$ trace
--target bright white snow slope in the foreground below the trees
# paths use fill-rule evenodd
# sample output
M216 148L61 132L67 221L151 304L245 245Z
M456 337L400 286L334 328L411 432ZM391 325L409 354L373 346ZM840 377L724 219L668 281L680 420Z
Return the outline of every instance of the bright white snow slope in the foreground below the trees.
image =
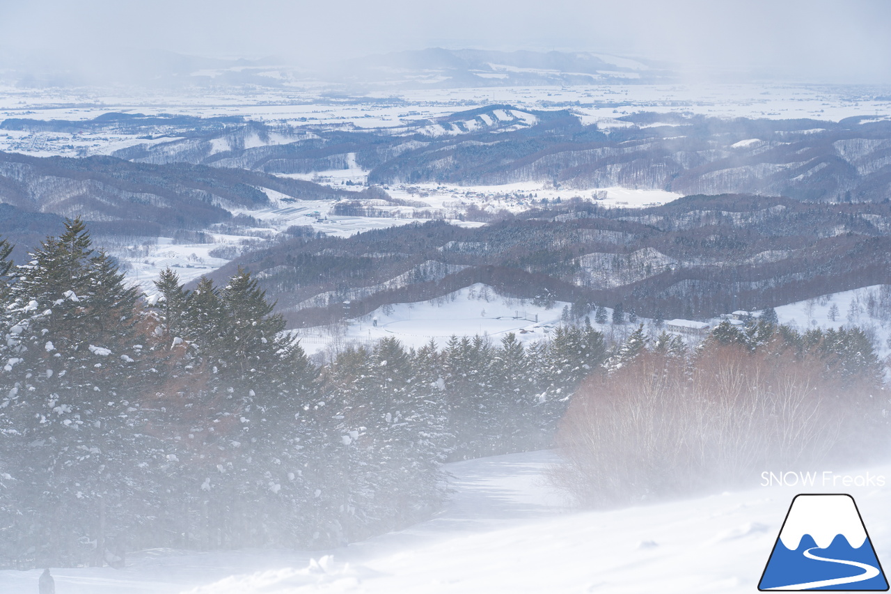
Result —
M150 550L127 568L53 570L59 594L292 594L296 592L752 592L792 498L850 493L879 561L891 558L891 466L810 471L816 484L762 486L608 511L577 511L545 480L553 452L448 465L454 494L429 521L340 549L194 553ZM836 486L822 484L836 471ZM844 472L843 472L844 471ZM791 475L787 475L791 483ZM37 591L39 570L0 572L0 593Z

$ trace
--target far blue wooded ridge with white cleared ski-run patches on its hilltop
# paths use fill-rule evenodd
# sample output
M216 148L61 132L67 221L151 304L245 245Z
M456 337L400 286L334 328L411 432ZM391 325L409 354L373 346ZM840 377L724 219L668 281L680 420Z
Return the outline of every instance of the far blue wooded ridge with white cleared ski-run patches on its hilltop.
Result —
M149 118L91 120L144 134ZM570 191L621 186L679 194L786 195L806 202L881 202L891 195L891 121L733 120L639 113L585 126L571 109L493 104L389 128L237 119L178 122L114 155L272 175L349 169L372 184L547 183ZM6 120L31 129L73 122ZM12 127L15 128L12 128ZM30 128L28 128L30 127ZM159 142L160 140L160 142Z

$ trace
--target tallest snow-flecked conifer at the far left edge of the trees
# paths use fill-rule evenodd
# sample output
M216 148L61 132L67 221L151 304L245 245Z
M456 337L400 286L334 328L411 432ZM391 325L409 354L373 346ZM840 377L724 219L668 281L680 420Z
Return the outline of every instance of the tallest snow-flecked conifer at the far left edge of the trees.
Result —
M29 476L12 532L33 560L102 563L106 536L140 521L122 507L145 477L135 290L75 219L16 269L11 296L0 406Z

